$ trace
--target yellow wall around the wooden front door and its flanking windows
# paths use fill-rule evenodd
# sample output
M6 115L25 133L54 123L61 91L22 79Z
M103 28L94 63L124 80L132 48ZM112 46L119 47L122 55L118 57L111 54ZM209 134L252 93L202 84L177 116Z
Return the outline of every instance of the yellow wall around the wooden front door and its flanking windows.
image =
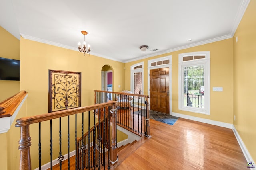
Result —
M178 55L195 51L210 51L210 115L178 109ZM226 39L188 49L166 53L125 64L125 89L130 89L130 66L144 61L144 93L148 92L148 60L172 55L172 112L201 117L214 121L233 123L233 40ZM145 68L146 67L146 68ZM212 87L223 87L223 92L213 92Z

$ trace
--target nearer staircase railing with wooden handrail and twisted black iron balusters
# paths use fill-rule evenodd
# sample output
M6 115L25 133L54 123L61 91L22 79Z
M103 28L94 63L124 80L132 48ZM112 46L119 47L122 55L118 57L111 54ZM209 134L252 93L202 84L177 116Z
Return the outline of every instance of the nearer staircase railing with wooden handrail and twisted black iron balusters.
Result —
M117 158L117 153L116 153L116 109L115 109L115 103L116 102L107 102L107 103L102 103L102 104L95 104L92 106L86 106L86 107L78 107L74 109L67 109L67 110L62 110L62 111L56 111L52 113L46 113L42 115L36 115L32 117L23 117L18 120L16 120L16 127L20 127L20 141L19 141L19 150L20 150L20 170L31 170L31 156L30 156L30 146L31 146L31 141L33 138L30 137L30 125L38 123L38 166L39 170L41 169L41 160L42 157L50 157L50 167L52 169L52 162L53 162L53 155L56 155L56 152L53 150L58 150L58 162L60 166L60 170L62 169L62 160L64 156L62 155L64 150L67 150L68 153L68 169L70 168L70 143L75 143L76 145L76 168L86 168L85 165L88 166L90 169L96 168L96 158L99 158L96 156L96 152L99 152L100 154L98 156L103 156L102 160L104 161L98 161L98 167L100 166L105 166L108 165L108 168L114 164L118 158ZM90 112L95 112L96 110L105 110L106 107L112 107L111 115L108 115L106 111L104 111L104 117L100 119L100 122L98 124L96 123L94 119L94 125L92 125L92 128L90 128ZM74 116L72 116L74 115ZM72 119L71 119L72 116ZM64 119L65 117L65 119ZM112 119L110 120L109 117ZM67 119L67 123L64 124L64 120ZM82 120L81 120L82 119ZM70 121L72 120L72 121ZM88 120L88 127L85 127L84 120ZM48 146L42 146L42 138L41 138L41 131L44 125L47 123L42 123L45 121L50 121L48 124L48 127L50 128L50 145ZM82 121L82 125L78 123L78 121ZM111 121L111 122L110 122ZM53 127L53 123L58 122L59 128L56 128L56 125ZM111 129L110 129L110 123ZM41 127L42 126L42 127ZM100 127L103 126L103 129ZM34 127L34 126L33 126ZM79 128L80 127L80 128ZM107 128L106 128L107 127ZM88 128L87 130L84 130ZM72 131L70 131L72 129ZM67 134L64 134L64 132L67 130ZM111 133L110 133L111 130ZM55 137L53 136L53 133L56 132L58 133L57 139L56 135ZM78 139L78 134L82 133L81 140ZM87 133L88 132L88 133ZM105 136L107 134L107 137ZM74 139L70 138L70 134L74 134ZM87 134L87 135L86 135ZM111 137L110 137L111 135ZM67 146L67 149L63 149L64 143L62 143L63 138L62 136L67 136L68 137L68 142L65 144ZM45 139L44 139L45 140ZM86 141L87 140L87 143ZM98 143L96 143L96 140ZM110 141L111 140L111 141ZM82 142L80 142L82 141ZM92 143L92 141L95 143ZM54 143L55 142L55 143ZM56 143L59 143L58 149L54 148L53 145ZM97 145L96 145L97 144ZM101 149L99 150L98 148L103 147L103 149L108 149L108 156L105 158L104 155L102 155ZM49 155L42 155L42 147L44 150L48 147L48 150L50 150ZM89 150L92 148L92 152ZM97 149L96 149L97 148ZM96 151L97 150L97 151ZM98 151L99 150L99 151ZM54 154L55 153L55 154ZM104 153L104 151L103 151ZM34 154L33 154L34 155ZM82 156L81 156L82 155ZM79 156L79 157L78 157ZM96 156L96 158L94 157ZM101 157L100 157L101 158ZM82 164L79 163L79 160L82 160ZM92 164L93 162L93 164ZM34 162L33 162L34 163ZM89 166L90 165L90 166Z

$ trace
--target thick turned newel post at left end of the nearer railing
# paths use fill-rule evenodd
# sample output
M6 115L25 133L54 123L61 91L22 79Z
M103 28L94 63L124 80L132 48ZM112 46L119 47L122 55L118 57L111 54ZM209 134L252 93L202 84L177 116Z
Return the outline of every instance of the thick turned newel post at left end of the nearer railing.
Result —
M29 125L20 127L20 170L31 170Z

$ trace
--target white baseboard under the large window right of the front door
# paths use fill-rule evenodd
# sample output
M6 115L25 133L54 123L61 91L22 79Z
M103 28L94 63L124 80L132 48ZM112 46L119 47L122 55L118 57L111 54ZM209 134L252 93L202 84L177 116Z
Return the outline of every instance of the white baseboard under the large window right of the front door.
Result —
M226 127L228 129L233 129L233 124L231 124L231 123L225 123L225 122L221 122L221 121L204 119L204 118L200 118L200 117L194 117L194 116L189 116L189 115L184 115L184 114L174 113L174 112L170 113L170 115L176 116L176 117L181 117L181 118L184 118L184 119L199 121L199 122L202 122L202 123L207 123L207 124L210 124L210 125L216 125L216 126L220 126L220 127Z

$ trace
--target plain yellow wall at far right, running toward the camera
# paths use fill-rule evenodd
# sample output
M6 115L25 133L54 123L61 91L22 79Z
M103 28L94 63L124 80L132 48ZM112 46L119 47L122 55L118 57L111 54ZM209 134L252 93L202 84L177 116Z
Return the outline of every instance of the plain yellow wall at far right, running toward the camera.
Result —
M234 115L240 137L256 160L256 1L251 0L234 35ZM238 42L236 42L238 37Z

